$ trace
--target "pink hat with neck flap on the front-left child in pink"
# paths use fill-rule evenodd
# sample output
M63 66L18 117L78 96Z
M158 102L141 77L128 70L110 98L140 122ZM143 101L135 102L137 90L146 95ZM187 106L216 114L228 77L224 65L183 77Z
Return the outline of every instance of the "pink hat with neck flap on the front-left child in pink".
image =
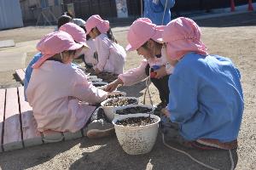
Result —
M37 49L43 55L34 65L32 65L32 68L39 68L46 59L49 59L55 54L60 54L66 50L76 50L82 47L82 44L74 42L73 38L65 31L49 33L38 42Z

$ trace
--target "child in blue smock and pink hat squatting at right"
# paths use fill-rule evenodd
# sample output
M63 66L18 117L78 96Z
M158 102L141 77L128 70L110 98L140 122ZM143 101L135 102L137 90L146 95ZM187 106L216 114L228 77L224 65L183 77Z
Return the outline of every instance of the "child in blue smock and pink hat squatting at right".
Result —
M240 72L230 59L207 53L193 20L172 20L163 39L167 59L175 65L163 112L178 125L176 139L197 149L235 149L244 109Z

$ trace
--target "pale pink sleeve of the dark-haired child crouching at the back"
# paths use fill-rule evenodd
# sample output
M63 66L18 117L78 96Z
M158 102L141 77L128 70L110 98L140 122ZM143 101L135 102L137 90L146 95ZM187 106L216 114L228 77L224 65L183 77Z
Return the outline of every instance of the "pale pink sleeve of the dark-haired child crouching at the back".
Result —
M107 63L110 54L110 48L108 46L108 39L98 36L95 39L96 51L98 54L98 63L93 68L99 69L100 71L104 70L104 67Z

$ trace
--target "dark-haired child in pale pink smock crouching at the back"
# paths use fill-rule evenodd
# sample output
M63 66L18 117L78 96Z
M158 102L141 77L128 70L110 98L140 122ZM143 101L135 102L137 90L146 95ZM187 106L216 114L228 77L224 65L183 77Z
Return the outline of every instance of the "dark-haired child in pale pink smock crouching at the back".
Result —
M86 34L95 39L98 63L93 67L96 74L105 71L114 74L123 73L125 49L114 39L108 20L92 15L85 24Z

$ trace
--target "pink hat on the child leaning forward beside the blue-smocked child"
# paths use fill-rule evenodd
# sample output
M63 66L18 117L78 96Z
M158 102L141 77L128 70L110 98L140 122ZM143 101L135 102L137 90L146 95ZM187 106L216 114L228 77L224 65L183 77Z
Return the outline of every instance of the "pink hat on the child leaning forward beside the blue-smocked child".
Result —
M148 18L140 18L135 20L127 33L129 44L126 46L127 51L140 48L150 38L155 42L162 43L162 32L164 26L156 26Z

